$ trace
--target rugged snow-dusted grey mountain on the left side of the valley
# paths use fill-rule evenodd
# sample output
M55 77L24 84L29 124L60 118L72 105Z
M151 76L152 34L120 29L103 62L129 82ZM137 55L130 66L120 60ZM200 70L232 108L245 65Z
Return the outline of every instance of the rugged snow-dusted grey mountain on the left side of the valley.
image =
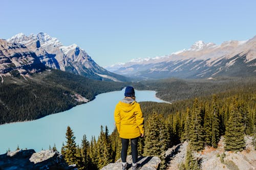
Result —
M57 38L46 33L30 36L20 33L7 40L0 39L1 77L10 75L10 71L26 76L46 68L60 69L96 80L127 80L100 67L76 44L64 46Z

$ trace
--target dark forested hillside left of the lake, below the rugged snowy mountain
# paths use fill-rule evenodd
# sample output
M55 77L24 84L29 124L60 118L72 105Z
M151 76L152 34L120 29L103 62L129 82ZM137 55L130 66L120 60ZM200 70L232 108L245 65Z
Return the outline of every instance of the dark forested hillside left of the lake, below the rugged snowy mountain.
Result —
M0 85L0 125L71 109L83 103L76 100L75 94L91 101L97 94L125 86L122 82L92 80L55 69L34 74L26 80L20 76L5 78Z

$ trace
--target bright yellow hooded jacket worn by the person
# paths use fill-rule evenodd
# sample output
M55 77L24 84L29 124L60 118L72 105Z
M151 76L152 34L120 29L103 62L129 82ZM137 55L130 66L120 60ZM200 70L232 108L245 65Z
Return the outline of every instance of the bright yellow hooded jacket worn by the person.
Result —
M115 122L119 136L124 139L133 139L144 134L144 118L140 104L119 102L115 108Z

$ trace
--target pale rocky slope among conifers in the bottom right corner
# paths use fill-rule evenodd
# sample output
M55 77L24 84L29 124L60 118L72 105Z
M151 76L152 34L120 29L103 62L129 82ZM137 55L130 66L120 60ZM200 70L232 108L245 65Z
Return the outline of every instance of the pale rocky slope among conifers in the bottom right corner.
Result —
M242 152L224 151L224 137L221 137L218 148L206 147L202 152L193 153L197 160L201 160L202 170L233 170L256 169L256 151L252 145L252 137L246 136L246 150ZM168 170L179 169L180 164L185 163L188 143L178 144L165 152L168 160Z

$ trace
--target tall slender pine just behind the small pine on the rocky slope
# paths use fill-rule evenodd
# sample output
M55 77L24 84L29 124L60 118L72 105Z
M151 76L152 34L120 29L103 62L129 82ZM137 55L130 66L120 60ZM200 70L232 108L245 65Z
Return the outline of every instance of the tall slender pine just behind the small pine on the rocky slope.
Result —
M203 127L202 117L203 109L199 105L198 99L195 99L192 115L191 115L191 126L190 126L190 144L191 149L194 151L201 151L203 149Z

